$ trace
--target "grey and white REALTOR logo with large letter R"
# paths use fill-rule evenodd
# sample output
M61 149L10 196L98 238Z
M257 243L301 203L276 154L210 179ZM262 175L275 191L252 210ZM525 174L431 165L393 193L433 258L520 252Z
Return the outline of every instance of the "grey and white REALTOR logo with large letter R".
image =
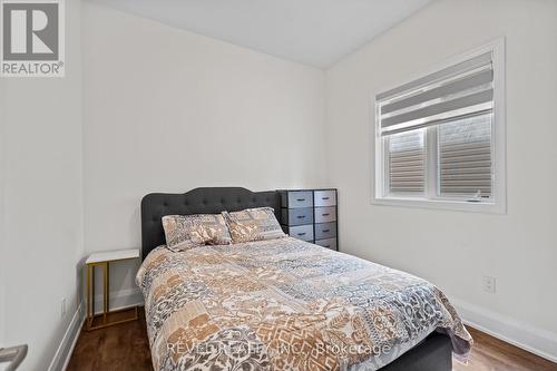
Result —
M0 0L2 77L63 77L63 0Z

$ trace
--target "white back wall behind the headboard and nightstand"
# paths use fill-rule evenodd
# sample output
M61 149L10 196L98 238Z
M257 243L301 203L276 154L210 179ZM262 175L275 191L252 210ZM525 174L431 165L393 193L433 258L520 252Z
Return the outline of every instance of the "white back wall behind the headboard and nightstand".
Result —
M149 192L323 185L323 70L90 2L82 45L88 252L139 247Z

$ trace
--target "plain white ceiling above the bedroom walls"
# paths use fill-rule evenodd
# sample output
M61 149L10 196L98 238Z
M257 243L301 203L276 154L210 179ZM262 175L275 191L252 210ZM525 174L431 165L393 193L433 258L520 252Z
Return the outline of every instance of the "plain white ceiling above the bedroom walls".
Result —
M92 0L283 59L326 68L430 0Z

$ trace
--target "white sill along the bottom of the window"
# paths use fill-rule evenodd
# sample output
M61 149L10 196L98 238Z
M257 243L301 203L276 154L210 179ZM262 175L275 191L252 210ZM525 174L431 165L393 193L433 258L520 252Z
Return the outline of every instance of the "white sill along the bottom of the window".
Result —
M447 201L447 199L428 199L428 198L410 198L410 197L373 197L373 205L399 206L399 207L419 207L446 209L455 212L469 213L486 213L486 214L506 214L505 205L501 203L488 202L468 202L468 201Z

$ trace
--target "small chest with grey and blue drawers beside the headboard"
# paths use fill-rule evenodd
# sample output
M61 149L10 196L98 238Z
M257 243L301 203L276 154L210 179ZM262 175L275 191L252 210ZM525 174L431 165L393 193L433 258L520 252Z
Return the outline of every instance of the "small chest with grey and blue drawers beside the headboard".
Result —
M281 224L286 234L339 250L336 189L282 189Z

